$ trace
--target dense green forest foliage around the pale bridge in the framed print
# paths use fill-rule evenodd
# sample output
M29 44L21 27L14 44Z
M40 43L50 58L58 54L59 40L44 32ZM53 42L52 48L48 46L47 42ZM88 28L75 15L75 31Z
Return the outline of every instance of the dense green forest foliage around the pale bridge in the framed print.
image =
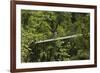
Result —
M21 61L45 62L90 58L90 14L21 10ZM81 36L36 43L59 37Z

